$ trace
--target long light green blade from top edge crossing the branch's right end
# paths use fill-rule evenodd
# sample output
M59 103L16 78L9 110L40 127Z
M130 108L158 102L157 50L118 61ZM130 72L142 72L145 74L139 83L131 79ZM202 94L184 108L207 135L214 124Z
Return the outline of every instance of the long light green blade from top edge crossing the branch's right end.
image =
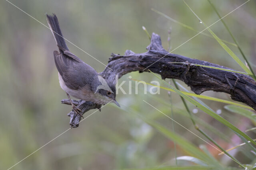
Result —
M186 4L186 6L188 6L188 4L184 0L183 2ZM233 51L230 48L228 48L228 46L225 43L223 43L223 41L196 15L196 13L189 6L188 8L196 16L196 18L198 18L198 20L204 24L204 26L208 29L208 31L212 34L216 41L218 41L218 43L234 59L234 61L236 61L236 63L238 63L248 74L252 75L250 69L246 67L246 65L235 55L235 53L233 53ZM256 81L256 78L254 78L254 76L251 77Z

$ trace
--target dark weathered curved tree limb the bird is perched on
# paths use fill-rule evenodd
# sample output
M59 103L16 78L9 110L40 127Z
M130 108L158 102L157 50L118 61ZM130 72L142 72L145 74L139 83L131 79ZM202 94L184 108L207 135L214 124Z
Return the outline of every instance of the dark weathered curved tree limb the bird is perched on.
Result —
M148 72L149 69L152 72L160 74L162 79L175 78L182 80L190 86L191 90L196 94L201 94L208 90L225 92L230 94L232 100L243 102L256 110L256 82L250 76L196 66L193 64L230 69L206 61L191 59L171 53L168 54L162 47L160 36L155 33L152 33L151 43L146 49L148 49L148 51L141 54L136 54L130 50L127 50L125 55L112 53L112 58L109 59L107 65L112 70L106 67L105 70L99 74L108 80L115 81L116 75L118 75L118 78L121 78L124 74L129 72ZM186 62L188 64L170 62ZM62 100L62 103L70 104L68 100ZM90 109L99 108L98 105L83 100L73 100L73 103L78 105L78 108L82 110L83 114ZM78 127L81 119L80 115L71 111L68 113L68 116L70 116L71 127Z

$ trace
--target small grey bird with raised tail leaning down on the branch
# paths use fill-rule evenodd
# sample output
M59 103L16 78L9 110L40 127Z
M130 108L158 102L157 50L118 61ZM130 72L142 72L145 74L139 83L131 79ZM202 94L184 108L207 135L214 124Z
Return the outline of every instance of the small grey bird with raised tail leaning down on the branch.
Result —
M94 68L72 54L60 31L57 16L55 14L46 16L59 49L59 52L54 51L53 55L58 69L60 87L66 92L74 111L82 116L81 110L74 106L69 95L98 105L113 102L120 107L116 102L116 82L104 79Z

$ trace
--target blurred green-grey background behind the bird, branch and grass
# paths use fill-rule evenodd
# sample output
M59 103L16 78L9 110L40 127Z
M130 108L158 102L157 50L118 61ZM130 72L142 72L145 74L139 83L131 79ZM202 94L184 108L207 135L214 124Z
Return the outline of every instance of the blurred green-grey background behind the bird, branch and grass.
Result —
M64 37L104 64L108 63L111 53L122 55L126 49L135 53L145 52L150 41L142 26L145 26L150 34L152 32L159 34L165 49L168 49L167 38L170 27L172 49L196 35L195 31L164 18L153 12L151 8L198 31L205 29L180 0L11 0L10 2L45 25L47 25L45 14L55 13ZM224 16L246 1L214 0L212 2L221 16ZM187 3L207 25L219 19L206 0L190 0ZM224 18L252 65L256 63L255 9L256 1L251 0ZM0 16L0 169L8 169L66 131L70 127L68 124L70 117L66 114L71 107L60 103L60 100L67 97L58 82L58 72L53 59L53 51L57 50L57 46L51 31L4 0L0 2ZM233 42L220 21L211 29L221 39ZM208 33L207 30L205 32ZM74 45L68 42L67 45L72 53L90 64L97 72L104 70L103 64ZM236 47L232 45L228 47L242 59ZM242 71L215 39L205 35L194 37L172 53ZM133 86L135 85L134 81L127 79L128 76L146 82L157 80L150 73L126 74L119 80L126 81L123 86L126 92L129 81ZM190 90L186 84L178 82ZM161 86L166 87L163 83ZM142 85L139 89L137 95L134 94L134 88L130 95L118 94L116 98L121 108L114 104L107 105L101 112L97 111L82 121L78 128L70 129L12 169L112 170L175 165L175 150L176 156L189 154L140 118L140 116L147 117L173 131L172 121L168 117L142 101L145 100L170 115L171 102L168 92L161 90L160 95L149 93L144 95ZM231 100L228 94L224 93L209 91L203 94ZM174 119L205 139L194 129L180 97L171 93L171 98ZM214 111L220 109L220 115L242 131L253 127L245 117L224 109L225 104L206 100L204 102ZM191 111L196 109L189 103L188 106ZM90 110L86 115L94 111ZM234 132L206 113L198 110L194 115L206 124L200 127L225 149L243 143ZM237 167L235 162L226 156L218 156L218 150L184 128L177 124L174 124L174 127L176 134L196 146L206 146L222 164ZM213 131L213 128L216 129ZM223 137L218 136L218 133ZM249 134L253 139L255 138L254 133ZM254 157L244 156L243 150L248 150L248 147L241 147L230 153L243 163L249 164ZM180 164L193 163L180 162Z

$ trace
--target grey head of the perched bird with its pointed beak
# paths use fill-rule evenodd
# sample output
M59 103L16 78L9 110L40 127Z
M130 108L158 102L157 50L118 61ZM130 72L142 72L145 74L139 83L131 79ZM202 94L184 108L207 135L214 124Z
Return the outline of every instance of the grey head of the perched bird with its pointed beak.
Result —
M94 93L98 93L99 95L96 95L99 97L99 100L103 100L104 102L113 102L117 106L120 107L118 102L116 102L116 83L115 81L110 81L108 79L104 79L102 76L98 76L98 83L94 84L94 87L92 88L94 90Z

